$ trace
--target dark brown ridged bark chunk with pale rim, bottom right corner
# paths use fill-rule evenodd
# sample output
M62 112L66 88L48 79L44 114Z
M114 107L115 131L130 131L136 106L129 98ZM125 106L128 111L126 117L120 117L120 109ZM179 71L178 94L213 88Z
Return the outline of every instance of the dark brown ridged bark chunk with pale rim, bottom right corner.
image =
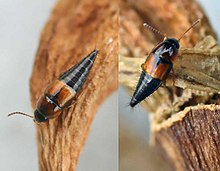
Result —
M187 107L154 131L173 170L220 170L219 105Z

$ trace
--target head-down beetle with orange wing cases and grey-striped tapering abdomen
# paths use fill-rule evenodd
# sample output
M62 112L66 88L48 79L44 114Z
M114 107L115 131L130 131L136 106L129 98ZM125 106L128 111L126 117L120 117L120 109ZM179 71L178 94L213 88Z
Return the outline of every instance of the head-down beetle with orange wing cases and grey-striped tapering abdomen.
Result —
M92 51L80 63L52 82L39 98L34 116L23 112L13 112L8 116L14 114L25 115L33 118L36 123L46 122L48 119L59 116L65 108L70 107L76 100L76 96L88 77L97 54L98 50Z

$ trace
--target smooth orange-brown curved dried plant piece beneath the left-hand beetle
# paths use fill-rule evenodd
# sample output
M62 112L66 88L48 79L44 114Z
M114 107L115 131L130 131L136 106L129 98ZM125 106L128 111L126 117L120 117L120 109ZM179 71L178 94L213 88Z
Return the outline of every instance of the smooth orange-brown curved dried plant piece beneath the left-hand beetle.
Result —
M95 48L99 55L76 103L58 118L36 126L40 170L76 169L99 105L117 88L118 29L117 0L56 4L42 32L30 80L33 108L60 73Z

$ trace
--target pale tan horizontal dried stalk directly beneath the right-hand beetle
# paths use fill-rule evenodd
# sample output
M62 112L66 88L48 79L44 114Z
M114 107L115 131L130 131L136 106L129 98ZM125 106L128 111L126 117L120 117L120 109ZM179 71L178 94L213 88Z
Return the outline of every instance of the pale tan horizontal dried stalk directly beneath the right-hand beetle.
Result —
M207 44L209 42L209 44ZM210 46L212 47L211 49ZM129 89L134 88L144 58L120 57L119 80ZM213 37L206 37L194 48L181 49L174 63L174 73L165 81L166 86L220 93L220 46ZM174 78L173 78L174 77Z

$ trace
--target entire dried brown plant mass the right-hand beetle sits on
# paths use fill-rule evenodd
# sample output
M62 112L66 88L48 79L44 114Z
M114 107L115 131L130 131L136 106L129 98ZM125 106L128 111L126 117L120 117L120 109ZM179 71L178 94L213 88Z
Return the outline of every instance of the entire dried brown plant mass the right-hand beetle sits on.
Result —
M121 1L119 80L130 93L146 51L163 40L143 23L179 38L198 18L180 42L174 72L141 103L151 112L152 140L170 170L219 170L219 106L206 104L220 104L220 46L196 1Z

